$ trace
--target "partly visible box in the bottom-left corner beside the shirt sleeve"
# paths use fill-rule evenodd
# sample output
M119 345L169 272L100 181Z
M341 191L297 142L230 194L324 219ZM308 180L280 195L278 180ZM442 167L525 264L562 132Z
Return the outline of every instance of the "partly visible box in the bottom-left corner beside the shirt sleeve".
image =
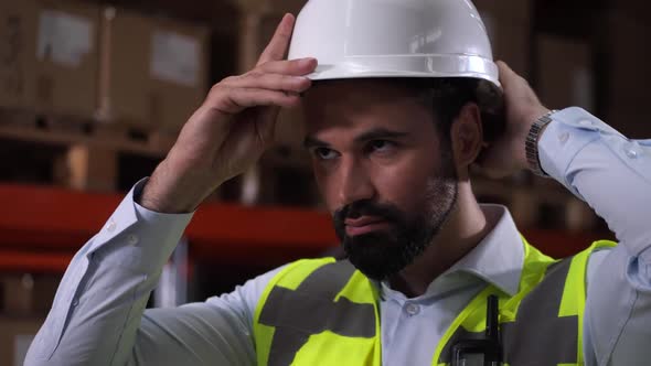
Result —
M0 316L0 365L22 366L43 322L41 317Z

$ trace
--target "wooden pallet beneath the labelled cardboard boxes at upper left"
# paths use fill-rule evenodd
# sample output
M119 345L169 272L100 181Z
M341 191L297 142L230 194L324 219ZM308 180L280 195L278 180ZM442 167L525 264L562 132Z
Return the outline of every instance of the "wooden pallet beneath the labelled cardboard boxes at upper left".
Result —
M174 141L173 137L137 133L120 125L15 109L0 109L0 139L14 142L6 146L12 144L11 153L17 159L11 163L19 165L30 163L30 150L56 147L47 157L53 172L51 181L35 183L102 192L118 187L120 154L160 160Z

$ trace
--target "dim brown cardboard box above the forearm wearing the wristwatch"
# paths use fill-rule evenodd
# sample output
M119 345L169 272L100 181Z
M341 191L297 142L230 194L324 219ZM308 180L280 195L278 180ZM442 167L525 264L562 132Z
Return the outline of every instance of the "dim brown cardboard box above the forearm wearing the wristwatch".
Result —
M541 34L536 37L536 92L548 108L595 111L593 50L586 42Z

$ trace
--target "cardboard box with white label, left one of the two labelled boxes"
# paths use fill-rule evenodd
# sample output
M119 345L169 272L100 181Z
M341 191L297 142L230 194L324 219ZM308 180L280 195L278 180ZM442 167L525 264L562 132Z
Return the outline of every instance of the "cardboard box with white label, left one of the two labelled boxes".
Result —
M93 118L97 109L99 8L39 0L36 110Z

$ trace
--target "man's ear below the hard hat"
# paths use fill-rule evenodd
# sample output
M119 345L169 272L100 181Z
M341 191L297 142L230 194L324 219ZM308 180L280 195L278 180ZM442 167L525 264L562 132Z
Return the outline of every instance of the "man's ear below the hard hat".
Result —
M457 169L468 169L477 160L483 146L481 111L474 103L461 107L450 129L452 151Z

